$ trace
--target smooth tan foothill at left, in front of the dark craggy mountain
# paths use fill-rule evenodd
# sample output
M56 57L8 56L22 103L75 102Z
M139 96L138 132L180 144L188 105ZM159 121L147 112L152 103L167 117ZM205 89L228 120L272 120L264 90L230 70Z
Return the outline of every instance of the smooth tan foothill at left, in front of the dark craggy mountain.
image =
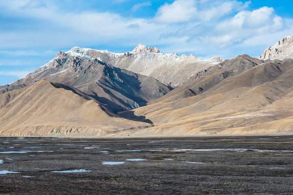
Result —
M78 89L41 80L0 95L0 136L128 135L150 124L117 117Z

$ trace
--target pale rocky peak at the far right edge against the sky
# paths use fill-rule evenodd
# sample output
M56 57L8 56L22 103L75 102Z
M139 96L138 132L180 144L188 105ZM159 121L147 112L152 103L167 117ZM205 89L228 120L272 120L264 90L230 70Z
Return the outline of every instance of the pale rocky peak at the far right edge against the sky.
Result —
M274 46L266 49L259 59L291 59L293 58L293 35L279 40Z

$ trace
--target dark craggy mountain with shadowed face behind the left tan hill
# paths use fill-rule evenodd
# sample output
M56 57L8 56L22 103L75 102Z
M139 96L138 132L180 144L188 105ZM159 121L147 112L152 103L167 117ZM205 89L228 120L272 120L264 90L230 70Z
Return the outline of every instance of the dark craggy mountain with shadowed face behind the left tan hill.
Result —
M1 93L29 86L40 79L73 86L104 104L113 113L145 106L149 100L171 90L154 78L116 68L99 59L60 52L55 59L26 78L10 86L2 86Z

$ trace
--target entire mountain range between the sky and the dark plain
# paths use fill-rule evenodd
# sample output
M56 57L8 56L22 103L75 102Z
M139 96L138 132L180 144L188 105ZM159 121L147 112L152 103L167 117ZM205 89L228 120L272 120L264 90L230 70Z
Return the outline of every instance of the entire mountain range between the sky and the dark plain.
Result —
M73 47L0 86L1 136L293 133L293 36L259 58Z

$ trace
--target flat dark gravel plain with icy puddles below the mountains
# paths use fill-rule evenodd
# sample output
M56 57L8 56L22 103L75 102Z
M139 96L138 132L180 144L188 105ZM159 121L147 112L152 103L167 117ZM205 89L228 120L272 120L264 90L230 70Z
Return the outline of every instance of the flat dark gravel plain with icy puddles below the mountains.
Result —
M293 194L293 136L2 137L1 160L19 173L0 174L0 194ZM52 173L80 169L91 172Z

